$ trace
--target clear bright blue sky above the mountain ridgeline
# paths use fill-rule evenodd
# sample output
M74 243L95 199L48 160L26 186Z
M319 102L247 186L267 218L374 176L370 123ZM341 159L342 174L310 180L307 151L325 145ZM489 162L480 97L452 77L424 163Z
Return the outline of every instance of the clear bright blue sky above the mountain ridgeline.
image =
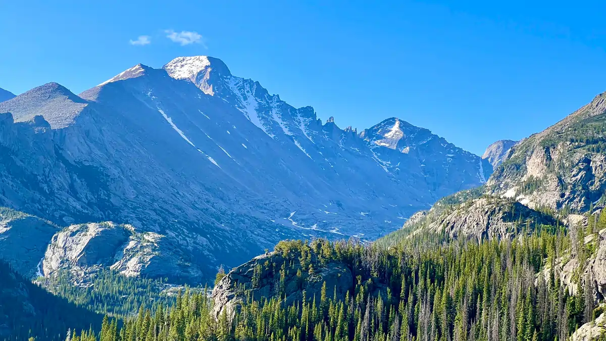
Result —
M606 4L533 3L2 1L0 87L79 93L139 62L210 55L341 127L397 116L482 154L606 90Z

